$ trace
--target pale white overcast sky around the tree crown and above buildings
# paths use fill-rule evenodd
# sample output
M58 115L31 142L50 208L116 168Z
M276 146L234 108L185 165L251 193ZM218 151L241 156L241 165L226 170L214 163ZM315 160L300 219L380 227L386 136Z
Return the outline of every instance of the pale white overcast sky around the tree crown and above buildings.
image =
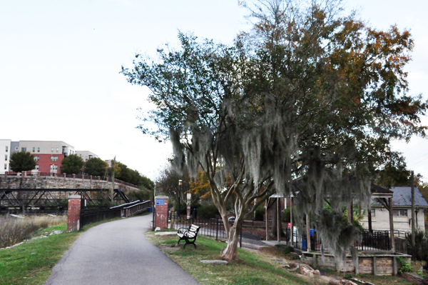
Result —
M409 94L428 98L428 1L346 6L379 29L411 30ZM156 179L171 146L136 129L138 107L153 106L148 89L129 84L121 66L131 68L136 53L174 46L178 31L229 44L248 29L246 13L236 0L0 0L0 139L66 141ZM393 146L428 181L428 139Z

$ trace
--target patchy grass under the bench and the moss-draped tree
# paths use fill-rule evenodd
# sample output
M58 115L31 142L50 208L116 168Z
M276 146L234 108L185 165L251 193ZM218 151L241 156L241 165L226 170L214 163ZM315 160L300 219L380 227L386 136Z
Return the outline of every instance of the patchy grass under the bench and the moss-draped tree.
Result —
M272 261L272 256L260 252L238 249L239 261L228 265L202 264L203 259L220 259L220 250L225 244L200 236L196 243L198 249L192 245L183 249L183 246L173 247L176 236L156 236L151 231L146 236L200 284L317 284L317 279L302 279L285 271Z

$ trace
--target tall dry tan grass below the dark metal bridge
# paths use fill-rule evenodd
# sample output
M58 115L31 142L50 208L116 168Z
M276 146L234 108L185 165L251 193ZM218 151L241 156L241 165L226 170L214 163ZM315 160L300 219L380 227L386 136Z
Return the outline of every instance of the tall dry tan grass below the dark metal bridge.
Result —
M66 223L66 216L26 216L24 219L0 218L0 249L31 239L39 229Z

